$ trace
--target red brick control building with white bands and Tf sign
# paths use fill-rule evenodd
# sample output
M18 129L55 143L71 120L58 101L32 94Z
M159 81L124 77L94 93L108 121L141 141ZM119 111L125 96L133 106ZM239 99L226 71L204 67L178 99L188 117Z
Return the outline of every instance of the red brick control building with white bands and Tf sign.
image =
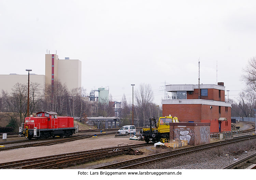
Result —
M200 90L200 91L199 91ZM231 130L231 103L225 102L224 83L167 85L172 92L162 100L163 116L171 114L180 122L210 123L210 132Z

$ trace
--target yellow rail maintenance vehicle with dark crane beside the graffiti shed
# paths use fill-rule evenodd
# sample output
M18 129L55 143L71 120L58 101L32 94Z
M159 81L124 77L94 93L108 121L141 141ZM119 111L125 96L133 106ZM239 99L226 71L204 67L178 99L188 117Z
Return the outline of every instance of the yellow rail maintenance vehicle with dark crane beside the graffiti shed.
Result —
M158 122L155 117L151 117L150 128L143 128L140 130L140 140L144 140L146 143L149 141L165 143L169 141L170 137L170 124L169 123L179 123L177 117L172 117L171 115L160 117ZM155 126L152 126L152 121L154 121Z

